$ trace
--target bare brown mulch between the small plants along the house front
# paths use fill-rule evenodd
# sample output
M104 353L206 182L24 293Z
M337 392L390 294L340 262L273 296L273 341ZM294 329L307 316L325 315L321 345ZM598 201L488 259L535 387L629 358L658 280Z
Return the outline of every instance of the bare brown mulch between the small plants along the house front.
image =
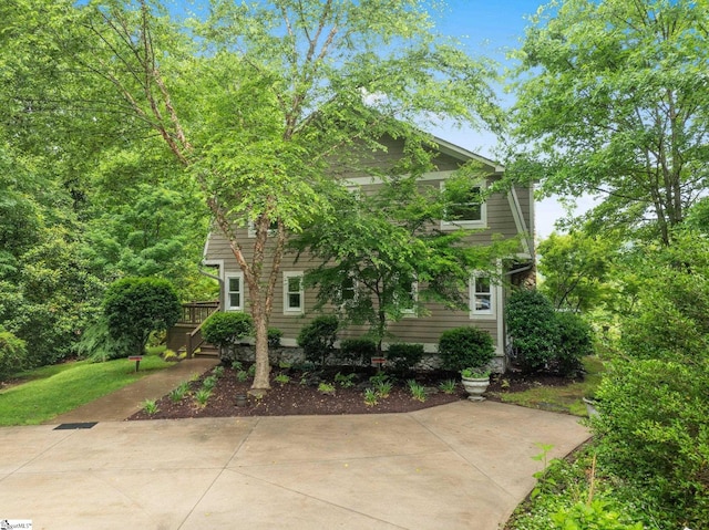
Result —
M261 398L248 397L246 406L236 405L236 396L247 394L250 378L238 382L236 371L224 367L224 374L218 377L216 386L204 406L199 405L195 394L202 387L203 381L212 375L207 373L189 385L189 391L179 399L173 401L163 396L156 402L157 412L147 414L144 409L131 416L135 419L177 419L199 417L232 417L232 416L292 416L292 415L342 415L342 414L387 414L407 413L422 408L434 407L465 399L466 394L459 384L453 394L445 394L439 389L442 381L454 378L455 374L446 372L429 372L414 376L399 377L390 395L379 398L376 405L364 403L364 388L371 386L369 377L376 374L372 370L356 373L353 385L342 387L336 384L333 395L318 391L320 382L335 382L335 374L351 373L351 367L329 367L320 373L302 373L294 370L278 370L271 372L271 389ZM278 383L276 375L285 373L290 377L288 383ZM427 388L425 402L414 399L407 386L407 380L415 378ZM507 373L493 377L486 396L491 401L500 401L501 393L521 392L538 385L566 385L571 381L555 376L523 376L518 373Z

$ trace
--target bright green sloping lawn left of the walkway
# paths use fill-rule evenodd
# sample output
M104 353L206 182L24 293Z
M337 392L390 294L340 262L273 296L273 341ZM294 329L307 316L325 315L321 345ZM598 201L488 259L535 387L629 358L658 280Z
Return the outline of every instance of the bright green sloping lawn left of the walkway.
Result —
M135 363L125 358L79 361L24 372L18 375L20 384L0 392L0 425L48 422L169 365L157 355L147 355L137 373Z

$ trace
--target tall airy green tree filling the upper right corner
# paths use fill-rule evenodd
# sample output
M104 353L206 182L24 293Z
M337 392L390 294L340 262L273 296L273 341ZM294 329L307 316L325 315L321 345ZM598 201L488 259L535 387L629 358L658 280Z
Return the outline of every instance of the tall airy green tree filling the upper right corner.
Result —
M510 174L546 195L603 200L596 229L670 245L707 190L707 0L564 0L540 9L515 56Z

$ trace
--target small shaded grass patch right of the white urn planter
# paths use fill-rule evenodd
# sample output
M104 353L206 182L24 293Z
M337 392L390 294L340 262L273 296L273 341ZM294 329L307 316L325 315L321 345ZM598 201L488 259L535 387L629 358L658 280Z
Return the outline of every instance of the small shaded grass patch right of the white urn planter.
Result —
M584 357L586 377L580 383L572 383L566 386L538 386L520 393L500 393L504 403L514 403L531 408L586 416L586 405L582 398L593 395L593 391L600 383L604 370L603 361L595 356Z

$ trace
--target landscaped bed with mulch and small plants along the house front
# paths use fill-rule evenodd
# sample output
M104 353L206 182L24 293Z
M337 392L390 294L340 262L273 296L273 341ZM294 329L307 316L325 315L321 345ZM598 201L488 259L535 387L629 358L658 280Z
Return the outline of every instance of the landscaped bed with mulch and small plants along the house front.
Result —
M348 366L322 371L274 368L271 389L257 398L248 396L250 377L248 366L244 368L219 366L216 373L196 377L161 399L144 404L129 419L405 413L466 398L460 376L450 372L394 375ZM571 383L573 380L564 377L513 372L493 377L486 396L502 401L505 394ZM245 406L237 406L239 395L247 396Z

